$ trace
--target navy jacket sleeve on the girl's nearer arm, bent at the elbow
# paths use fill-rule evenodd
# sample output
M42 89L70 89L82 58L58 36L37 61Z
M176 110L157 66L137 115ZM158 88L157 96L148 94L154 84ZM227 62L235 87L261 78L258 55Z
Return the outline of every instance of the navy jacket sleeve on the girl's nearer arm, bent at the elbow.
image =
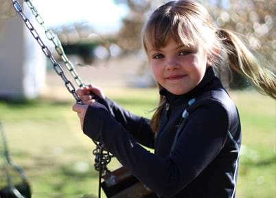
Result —
M201 104L188 117L174 150L160 157L141 147L101 104L89 107L84 133L104 144L133 175L161 197L172 197L218 155L228 130L228 116L218 102Z

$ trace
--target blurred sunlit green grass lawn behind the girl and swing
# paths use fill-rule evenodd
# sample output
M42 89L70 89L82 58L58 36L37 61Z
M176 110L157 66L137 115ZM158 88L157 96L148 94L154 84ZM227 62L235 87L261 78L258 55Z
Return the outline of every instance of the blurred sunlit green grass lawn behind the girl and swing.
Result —
M110 91L107 95L148 118L158 100L154 89ZM242 120L237 197L273 197L275 100L255 92L233 92L231 96ZM97 197L98 175L91 154L94 145L80 130L77 115L71 111L73 103L43 98L22 103L0 101L0 120L12 159L27 173L33 197ZM113 159L108 167L114 170L119 163ZM3 168L0 186L1 175Z

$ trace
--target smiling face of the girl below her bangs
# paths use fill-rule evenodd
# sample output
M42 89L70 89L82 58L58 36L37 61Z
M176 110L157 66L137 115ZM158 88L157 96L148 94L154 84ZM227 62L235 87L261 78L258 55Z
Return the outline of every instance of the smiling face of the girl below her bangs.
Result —
M207 54L203 49L178 45L173 39L161 49L150 49L148 55L157 82L176 95L194 89L207 67Z

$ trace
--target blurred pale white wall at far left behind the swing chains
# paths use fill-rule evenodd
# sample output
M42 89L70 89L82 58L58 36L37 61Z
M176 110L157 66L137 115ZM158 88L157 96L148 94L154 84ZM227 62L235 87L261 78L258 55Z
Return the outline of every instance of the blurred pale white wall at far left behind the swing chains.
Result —
M21 17L5 20L0 26L0 98L36 98L45 85L45 69L41 47Z

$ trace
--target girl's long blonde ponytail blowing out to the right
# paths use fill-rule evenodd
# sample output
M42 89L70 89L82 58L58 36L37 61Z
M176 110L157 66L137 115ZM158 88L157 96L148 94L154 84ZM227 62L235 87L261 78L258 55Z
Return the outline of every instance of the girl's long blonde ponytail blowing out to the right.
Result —
M242 41L229 30L220 29L217 32L229 58L229 66L233 71L249 79L261 94L267 94L276 99L276 76L265 67L261 67L257 58L247 49Z

